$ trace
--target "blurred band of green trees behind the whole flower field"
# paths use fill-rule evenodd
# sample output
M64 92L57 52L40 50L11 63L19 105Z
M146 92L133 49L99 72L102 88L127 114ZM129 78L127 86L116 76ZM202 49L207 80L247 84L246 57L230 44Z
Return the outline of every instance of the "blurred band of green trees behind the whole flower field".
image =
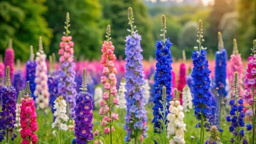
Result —
M132 7L135 25L142 35L142 54L154 56L156 40L161 40L160 22L166 16L167 37L170 38L174 59L187 59L194 50L197 23L203 20L205 47L212 57L218 48L217 32L221 31L224 46L231 54L233 38L239 52L247 58L256 39L256 0L9 0L0 1L0 52L13 38L16 58L29 58L29 45L37 49L38 37L43 36L47 55L57 53L64 31L66 13L70 13L70 31L75 41L75 56L79 59L100 59L105 29L111 25L115 54L124 58L124 40L129 34L127 8Z

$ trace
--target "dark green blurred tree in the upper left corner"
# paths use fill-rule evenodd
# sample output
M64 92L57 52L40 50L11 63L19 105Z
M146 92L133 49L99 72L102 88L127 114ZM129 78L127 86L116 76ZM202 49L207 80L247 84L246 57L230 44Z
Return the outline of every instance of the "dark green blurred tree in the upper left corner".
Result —
M13 0L0 1L0 53L8 46L9 39L13 39L15 58L26 61L29 58L29 47L38 49L39 37L43 38L46 53L49 52L52 30L43 17L47 7L44 0Z

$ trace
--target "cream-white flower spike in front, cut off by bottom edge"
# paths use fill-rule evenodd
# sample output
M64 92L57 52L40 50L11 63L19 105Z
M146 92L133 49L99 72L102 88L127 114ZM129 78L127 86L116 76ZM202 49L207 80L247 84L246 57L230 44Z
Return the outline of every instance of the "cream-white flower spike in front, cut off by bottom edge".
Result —
M186 124L183 122L184 113L180 101L170 101L169 112L167 119L169 121L167 131L168 138L171 137L169 143L185 144L184 131L186 131Z

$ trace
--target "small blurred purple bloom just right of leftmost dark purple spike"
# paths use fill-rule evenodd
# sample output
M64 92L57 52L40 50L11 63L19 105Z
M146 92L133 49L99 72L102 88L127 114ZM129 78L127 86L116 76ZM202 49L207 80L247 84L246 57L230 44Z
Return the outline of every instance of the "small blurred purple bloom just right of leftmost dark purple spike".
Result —
M25 88L25 80L22 71L18 70L13 76L13 87L16 89L16 100L19 97L19 91Z

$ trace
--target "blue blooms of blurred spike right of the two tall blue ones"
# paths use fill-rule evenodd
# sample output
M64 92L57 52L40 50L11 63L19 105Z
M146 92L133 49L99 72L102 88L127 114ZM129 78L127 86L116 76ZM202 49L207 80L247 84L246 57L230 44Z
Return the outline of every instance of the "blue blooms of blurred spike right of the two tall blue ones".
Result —
M215 62L215 88L219 88L220 97L226 97L228 92L225 89L227 85L227 51L225 49L216 52Z

